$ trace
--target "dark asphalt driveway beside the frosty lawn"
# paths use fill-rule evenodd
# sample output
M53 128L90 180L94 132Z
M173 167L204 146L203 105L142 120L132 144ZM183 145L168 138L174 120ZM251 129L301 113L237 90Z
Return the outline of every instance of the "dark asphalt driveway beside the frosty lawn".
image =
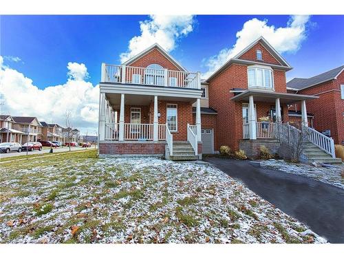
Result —
M224 173L331 243L344 243L344 191L300 175L253 166L249 161L206 158Z

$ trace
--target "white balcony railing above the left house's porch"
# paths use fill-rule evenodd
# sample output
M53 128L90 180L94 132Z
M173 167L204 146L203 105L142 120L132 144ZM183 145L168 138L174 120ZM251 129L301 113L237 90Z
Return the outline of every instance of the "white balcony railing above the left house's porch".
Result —
M102 82L201 89L200 73L126 65L102 65Z

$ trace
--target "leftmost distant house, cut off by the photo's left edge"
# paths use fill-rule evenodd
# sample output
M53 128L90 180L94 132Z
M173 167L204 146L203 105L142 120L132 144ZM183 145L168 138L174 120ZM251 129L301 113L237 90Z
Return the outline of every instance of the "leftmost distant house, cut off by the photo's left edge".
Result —
M0 142L22 142L23 131L15 129L12 116L0 115Z

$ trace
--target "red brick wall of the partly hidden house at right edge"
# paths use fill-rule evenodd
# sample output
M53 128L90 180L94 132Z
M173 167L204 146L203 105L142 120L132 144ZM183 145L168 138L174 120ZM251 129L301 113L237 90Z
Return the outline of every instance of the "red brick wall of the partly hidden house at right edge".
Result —
M318 99L308 100L306 108L314 114L313 127L317 131L331 130L331 136L336 144L344 141L344 100L341 99L341 84L344 84L342 72L336 80L321 83L299 91L299 94L319 94ZM298 107L300 110L300 106Z

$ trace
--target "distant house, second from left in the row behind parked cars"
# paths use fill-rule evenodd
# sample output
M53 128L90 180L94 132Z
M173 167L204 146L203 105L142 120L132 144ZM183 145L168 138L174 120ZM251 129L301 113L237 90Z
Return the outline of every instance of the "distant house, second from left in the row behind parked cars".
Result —
M36 142L39 137L39 128L42 126L39 120L34 116L12 116L17 131L24 134L21 137L21 144L25 142Z

